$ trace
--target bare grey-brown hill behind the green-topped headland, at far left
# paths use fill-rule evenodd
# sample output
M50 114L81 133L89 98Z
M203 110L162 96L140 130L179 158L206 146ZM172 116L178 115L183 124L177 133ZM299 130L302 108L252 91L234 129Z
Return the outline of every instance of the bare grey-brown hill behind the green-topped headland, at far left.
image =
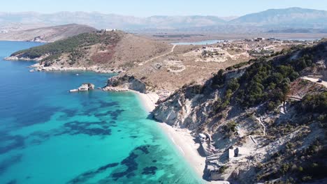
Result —
M66 24L61 26L48 26L37 29L27 29L22 31L10 31L0 33L0 40L20 40L34 42L54 42L80 33L90 33L96 31L91 26L81 24Z

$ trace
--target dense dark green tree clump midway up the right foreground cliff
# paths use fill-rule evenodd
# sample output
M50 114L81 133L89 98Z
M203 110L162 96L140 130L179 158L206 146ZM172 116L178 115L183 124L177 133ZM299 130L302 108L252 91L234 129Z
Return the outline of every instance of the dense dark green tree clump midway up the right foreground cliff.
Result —
M299 77L299 72L312 66L313 56L304 54L299 59L266 61L261 59L247 68L241 77L242 90L238 99L243 107L253 107L268 102L269 110L275 109L286 99L289 84Z

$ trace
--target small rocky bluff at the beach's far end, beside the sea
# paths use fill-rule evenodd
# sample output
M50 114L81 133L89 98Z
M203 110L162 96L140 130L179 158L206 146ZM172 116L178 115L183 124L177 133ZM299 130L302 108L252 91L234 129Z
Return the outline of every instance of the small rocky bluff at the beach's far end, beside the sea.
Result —
M147 86L144 82L129 75L112 77L108 79L107 86L119 87L121 89L130 89L140 93L147 92Z

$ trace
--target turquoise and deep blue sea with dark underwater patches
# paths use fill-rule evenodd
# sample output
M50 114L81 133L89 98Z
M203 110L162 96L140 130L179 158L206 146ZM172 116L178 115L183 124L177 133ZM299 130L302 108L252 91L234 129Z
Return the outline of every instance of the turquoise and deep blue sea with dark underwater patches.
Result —
M0 183L202 182L134 93L68 93L112 75L3 61L36 45L0 42Z

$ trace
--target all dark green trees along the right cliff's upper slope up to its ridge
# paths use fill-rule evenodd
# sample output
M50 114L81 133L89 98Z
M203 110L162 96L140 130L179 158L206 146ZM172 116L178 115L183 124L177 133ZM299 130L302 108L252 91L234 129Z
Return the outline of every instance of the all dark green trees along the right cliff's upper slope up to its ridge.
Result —
M300 51L299 51L300 50ZM218 100L215 109L224 109L235 93L236 100L242 107L254 107L266 102L268 110L275 109L284 100L289 92L289 85L299 77L299 73L307 67L314 66L314 59L321 55L325 50L324 43L315 47L303 48L303 46L293 47L289 52L283 50L273 60L267 61L266 58L251 60L239 63L226 70L249 66L245 74L239 80L233 79L226 84L226 94L223 100ZM298 58L294 58L294 54ZM293 57L293 59L291 59ZM221 88L224 86L225 78L223 71L219 70L217 75L212 78L212 87ZM236 91L236 92L235 92Z

